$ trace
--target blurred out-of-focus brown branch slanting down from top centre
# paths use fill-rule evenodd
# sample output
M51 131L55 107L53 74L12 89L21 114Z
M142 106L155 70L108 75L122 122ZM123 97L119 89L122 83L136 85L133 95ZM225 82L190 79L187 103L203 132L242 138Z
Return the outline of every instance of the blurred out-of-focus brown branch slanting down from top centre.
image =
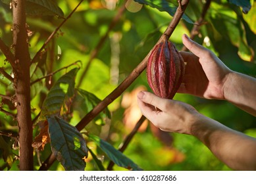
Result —
M126 7L125 7L126 1L124 2L124 5L122 5L122 7L120 7L120 9L118 10L118 13L113 18L111 24L109 24L109 28L108 28L107 32L105 33L105 35L103 35L103 37L101 37L101 39L97 43L95 49L93 49L93 51L91 51L90 58L88 60L88 63L86 64L86 68L84 69L84 72L82 73L82 76L80 77L80 81L77 84L78 87L80 87L80 85L82 84L82 81L86 77L86 74L91 66L91 62L93 61L93 58L95 58L96 55L99 53L99 50L103 46L103 43L105 43L105 40L107 39L107 36L109 35L109 32L111 32L111 30L116 26L118 20L122 16L123 12L126 10Z

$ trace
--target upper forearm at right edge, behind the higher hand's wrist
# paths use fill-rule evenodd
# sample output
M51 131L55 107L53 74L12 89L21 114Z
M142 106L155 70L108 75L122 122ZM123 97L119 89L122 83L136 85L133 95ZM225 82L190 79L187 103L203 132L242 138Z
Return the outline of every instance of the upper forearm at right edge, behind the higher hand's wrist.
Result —
M224 85L224 99L256 116L256 79L231 72Z

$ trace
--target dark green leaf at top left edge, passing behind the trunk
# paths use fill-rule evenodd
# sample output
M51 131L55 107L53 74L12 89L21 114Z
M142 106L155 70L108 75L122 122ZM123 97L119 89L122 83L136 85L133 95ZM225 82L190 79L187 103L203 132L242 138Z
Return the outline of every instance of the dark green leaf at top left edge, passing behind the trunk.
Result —
M9 5L11 0L1 0ZM26 13L30 15L57 15L64 17L63 11L52 0L26 0Z

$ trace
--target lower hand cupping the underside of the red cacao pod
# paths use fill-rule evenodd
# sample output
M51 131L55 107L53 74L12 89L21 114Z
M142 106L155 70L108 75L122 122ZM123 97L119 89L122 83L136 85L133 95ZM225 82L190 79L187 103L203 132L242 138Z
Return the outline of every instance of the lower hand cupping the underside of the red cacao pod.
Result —
M142 114L163 131L191 134L191 127L202 115L190 104L162 99L141 91L137 95Z

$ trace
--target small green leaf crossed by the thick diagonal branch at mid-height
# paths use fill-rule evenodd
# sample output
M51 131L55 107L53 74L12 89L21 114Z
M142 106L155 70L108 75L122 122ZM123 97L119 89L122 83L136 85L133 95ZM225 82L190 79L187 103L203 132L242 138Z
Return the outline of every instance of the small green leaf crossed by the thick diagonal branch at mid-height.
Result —
M91 109L94 108L98 103L101 102L100 99L98 99L93 93L90 93L88 91L84 91L83 89L77 89L78 93L81 95L81 97L84 98L84 102L86 104L86 112L90 112ZM111 112L108 108L105 108L103 112L101 112L96 118L96 121L101 120L101 122L105 122L106 118L111 118ZM101 123L102 124L102 123Z

